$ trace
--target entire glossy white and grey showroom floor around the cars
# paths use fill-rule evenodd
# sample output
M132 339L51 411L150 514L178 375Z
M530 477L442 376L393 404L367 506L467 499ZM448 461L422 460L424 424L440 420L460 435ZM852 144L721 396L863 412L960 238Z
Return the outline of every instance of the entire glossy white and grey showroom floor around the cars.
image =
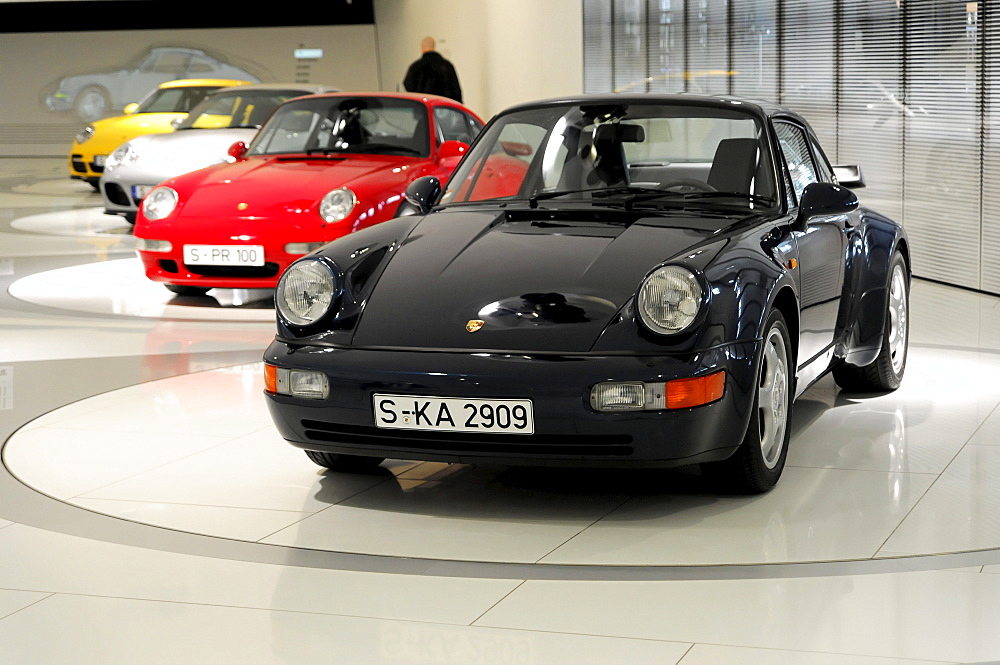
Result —
M0 663L1000 660L1000 299L915 282L903 387L812 387L764 496L332 474L264 407L270 293L172 296L99 206L0 160Z

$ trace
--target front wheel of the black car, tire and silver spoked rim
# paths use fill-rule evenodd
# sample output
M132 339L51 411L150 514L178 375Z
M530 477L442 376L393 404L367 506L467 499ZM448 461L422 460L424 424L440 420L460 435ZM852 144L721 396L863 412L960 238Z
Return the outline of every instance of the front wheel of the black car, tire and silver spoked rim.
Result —
M732 489L746 494L767 492L778 483L791 434L795 362L781 312L768 315L764 331L750 424L740 447L721 463Z

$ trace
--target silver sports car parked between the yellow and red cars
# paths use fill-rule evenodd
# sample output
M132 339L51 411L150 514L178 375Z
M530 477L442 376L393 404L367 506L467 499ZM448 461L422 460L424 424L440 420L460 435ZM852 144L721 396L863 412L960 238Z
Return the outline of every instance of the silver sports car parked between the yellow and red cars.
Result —
M104 211L135 223L139 203L164 180L229 159L237 141L249 143L279 104L293 97L335 88L268 83L222 88L208 95L175 131L148 134L123 143L107 159L100 192Z

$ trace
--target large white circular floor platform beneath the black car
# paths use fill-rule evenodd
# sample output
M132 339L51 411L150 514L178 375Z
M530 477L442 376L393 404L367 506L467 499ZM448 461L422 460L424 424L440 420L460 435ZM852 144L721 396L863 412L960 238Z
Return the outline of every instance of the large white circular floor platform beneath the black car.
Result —
M91 511L249 542L611 566L864 561L1000 548L1000 355L913 346L878 396L829 378L792 412L778 487L691 473L387 461L329 473L277 434L262 366L99 395L28 423L4 459Z

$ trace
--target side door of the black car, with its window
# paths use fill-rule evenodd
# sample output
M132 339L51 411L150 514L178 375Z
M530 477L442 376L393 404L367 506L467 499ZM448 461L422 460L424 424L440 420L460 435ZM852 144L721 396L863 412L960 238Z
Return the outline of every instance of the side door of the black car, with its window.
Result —
M806 186L826 177L821 157L814 157L805 129L791 121L774 122L792 188L790 203L798 201ZM808 220L795 232L798 245L798 280L801 319L799 322L799 367L819 360L825 369L837 335L837 317L844 291L844 262L847 249L845 215L821 216Z

